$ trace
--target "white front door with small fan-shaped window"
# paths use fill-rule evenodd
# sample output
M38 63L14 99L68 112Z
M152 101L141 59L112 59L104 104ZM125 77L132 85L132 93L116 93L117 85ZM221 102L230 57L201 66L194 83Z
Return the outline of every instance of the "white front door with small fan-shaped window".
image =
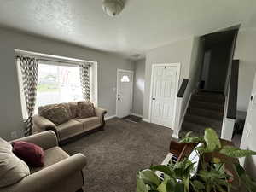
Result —
M123 118L131 114L133 73L118 70L117 77L117 116Z

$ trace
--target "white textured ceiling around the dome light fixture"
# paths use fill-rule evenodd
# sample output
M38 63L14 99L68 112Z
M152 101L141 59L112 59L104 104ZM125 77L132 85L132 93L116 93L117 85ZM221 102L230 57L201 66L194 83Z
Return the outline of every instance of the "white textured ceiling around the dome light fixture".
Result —
M126 0L114 18L102 0L1 0L0 25L131 58L239 23L255 27L254 13L255 0Z

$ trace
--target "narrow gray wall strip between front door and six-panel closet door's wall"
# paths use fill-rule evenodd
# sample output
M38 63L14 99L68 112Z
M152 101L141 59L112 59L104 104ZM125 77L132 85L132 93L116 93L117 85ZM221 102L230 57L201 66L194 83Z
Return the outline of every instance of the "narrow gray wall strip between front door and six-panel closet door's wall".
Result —
M133 80L133 103L132 113L143 116L143 97L145 86L145 64L146 60L142 59L134 63L134 80Z

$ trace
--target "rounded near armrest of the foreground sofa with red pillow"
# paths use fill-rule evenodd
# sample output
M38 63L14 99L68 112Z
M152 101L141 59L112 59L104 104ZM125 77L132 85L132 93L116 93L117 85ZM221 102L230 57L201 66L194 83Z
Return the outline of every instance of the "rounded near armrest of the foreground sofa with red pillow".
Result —
M84 166L86 166L84 154L75 154L25 177L15 184L14 191L16 189L21 192L52 191L52 189L55 189L56 184L61 184L62 180L70 177L73 173L82 171Z

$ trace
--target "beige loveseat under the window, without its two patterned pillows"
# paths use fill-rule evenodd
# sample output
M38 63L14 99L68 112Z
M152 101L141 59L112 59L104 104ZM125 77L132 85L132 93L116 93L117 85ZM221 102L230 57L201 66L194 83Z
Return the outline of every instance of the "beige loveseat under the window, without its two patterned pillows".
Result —
M102 108L95 108L96 116L79 119L76 115L76 103L77 102L68 102L68 103L61 103L58 105L64 105L65 108L72 108L73 115L71 118L61 124L55 125L49 119L45 119L41 115L35 115L33 117L33 132L41 132L41 131L55 131L56 136L58 137L59 143L67 142L67 140L71 137L79 136L84 132L100 129L104 129L105 120L104 115L107 113L105 109ZM48 105L44 107L38 108L38 113L43 110L42 108L51 108L52 106L57 105Z

